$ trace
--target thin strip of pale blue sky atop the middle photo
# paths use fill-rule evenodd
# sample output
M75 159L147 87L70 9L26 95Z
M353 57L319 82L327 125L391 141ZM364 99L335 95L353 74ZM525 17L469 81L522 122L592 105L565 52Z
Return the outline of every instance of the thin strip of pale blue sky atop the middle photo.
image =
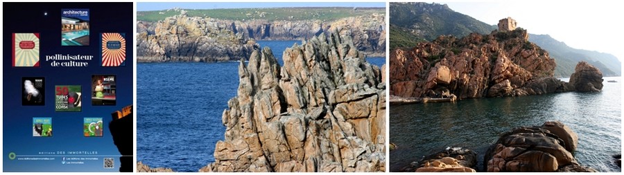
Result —
M384 8L385 2L379 3L137 3L137 11L166 10L170 8L213 9L213 8L284 8L284 7L378 7Z

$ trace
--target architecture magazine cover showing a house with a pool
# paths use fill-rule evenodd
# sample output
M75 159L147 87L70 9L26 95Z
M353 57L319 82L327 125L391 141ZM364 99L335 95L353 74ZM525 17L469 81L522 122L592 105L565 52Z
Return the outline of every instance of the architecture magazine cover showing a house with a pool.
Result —
M61 46L89 46L89 9L61 9Z

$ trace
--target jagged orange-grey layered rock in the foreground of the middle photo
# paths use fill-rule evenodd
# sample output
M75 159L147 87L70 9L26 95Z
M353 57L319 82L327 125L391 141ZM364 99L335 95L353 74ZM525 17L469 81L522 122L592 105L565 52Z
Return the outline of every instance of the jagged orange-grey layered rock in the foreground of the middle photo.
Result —
M385 85L349 36L269 48L239 66L225 140L200 172L384 172Z

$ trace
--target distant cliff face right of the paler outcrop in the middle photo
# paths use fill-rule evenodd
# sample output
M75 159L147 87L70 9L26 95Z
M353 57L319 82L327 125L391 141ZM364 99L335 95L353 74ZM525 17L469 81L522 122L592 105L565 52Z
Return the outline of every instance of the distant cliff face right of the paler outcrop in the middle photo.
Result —
M336 21L224 21L229 30L245 38L304 40L338 30L353 38L354 46L367 55L385 55L385 15L346 17Z

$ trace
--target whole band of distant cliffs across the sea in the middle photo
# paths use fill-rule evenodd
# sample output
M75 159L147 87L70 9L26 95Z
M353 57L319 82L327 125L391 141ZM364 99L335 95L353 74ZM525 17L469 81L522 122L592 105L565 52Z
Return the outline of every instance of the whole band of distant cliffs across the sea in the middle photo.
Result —
M305 40L329 33L348 35L368 57L385 57L385 15L334 21L235 21L180 15L137 22L137 62L226 62L247 59L257 40Z

